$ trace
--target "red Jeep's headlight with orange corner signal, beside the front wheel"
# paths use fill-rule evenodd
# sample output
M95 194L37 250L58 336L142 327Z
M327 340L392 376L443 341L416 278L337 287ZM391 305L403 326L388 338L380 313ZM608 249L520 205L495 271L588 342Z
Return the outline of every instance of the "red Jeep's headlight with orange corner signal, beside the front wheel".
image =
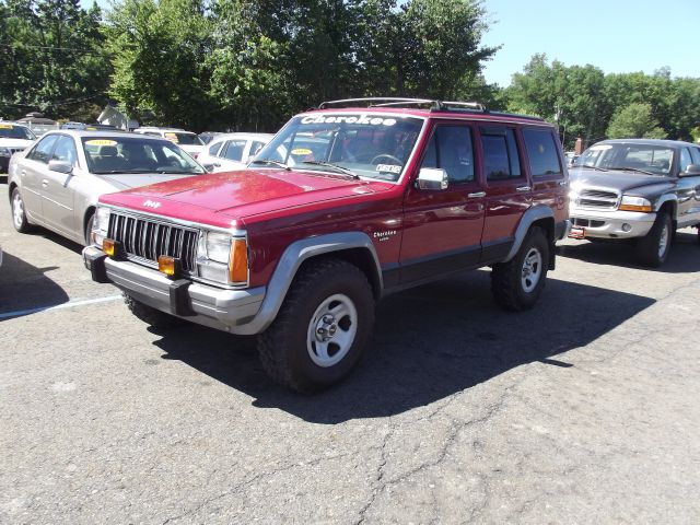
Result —
M202 232L197 246L199 277L222 284L248 283L248 244L245 237Z

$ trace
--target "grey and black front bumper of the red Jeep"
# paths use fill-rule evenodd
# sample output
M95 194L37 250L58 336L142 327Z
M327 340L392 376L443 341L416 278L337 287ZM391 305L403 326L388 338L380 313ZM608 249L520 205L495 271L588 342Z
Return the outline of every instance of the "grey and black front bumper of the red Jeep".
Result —
M173 281L151 268L112 259L95 246L83 249L83 261L94 281L112 282L166 314L232 334L259 330L260 325L254 320L265 299L265 287L226 290L186 279Z

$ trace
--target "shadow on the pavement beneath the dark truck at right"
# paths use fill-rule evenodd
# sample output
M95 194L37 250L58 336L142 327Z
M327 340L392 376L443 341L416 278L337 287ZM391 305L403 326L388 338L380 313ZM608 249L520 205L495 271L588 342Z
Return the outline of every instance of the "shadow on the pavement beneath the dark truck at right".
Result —
M693 273L700 271L700 244L698 234L688 229L676 232L666 262L658 268L642 266L637 260L634 245L620 241L575 241L575 244L557 246L557 255L571 259L622 268L641 268L664 273Z

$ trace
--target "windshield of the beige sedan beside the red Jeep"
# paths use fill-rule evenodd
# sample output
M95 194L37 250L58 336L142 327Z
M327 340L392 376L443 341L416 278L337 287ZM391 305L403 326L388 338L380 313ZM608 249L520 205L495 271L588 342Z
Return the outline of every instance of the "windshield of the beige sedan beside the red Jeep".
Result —
M206 173L179 147L167 140L138 136L83 137L88 170L106 173Z

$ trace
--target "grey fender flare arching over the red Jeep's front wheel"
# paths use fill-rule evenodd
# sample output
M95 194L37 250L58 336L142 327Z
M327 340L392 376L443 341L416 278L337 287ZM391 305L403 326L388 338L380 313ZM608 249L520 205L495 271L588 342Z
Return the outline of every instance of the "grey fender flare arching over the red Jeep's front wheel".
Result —
M377 282L380 290L382 290L384 283L382 280L380 258L376 255L372 240L366 233L339 232L302 238L293 242L284 249L266 287L267 290L260 310L258 310L258 313L250 323L241 326L241 329L236 330L236 334L259 334L270 326L284 302L284 298L292 285L294 277L296 277L296 272L305 260L318 255L357 248L366 249L372 255L378 279Z

